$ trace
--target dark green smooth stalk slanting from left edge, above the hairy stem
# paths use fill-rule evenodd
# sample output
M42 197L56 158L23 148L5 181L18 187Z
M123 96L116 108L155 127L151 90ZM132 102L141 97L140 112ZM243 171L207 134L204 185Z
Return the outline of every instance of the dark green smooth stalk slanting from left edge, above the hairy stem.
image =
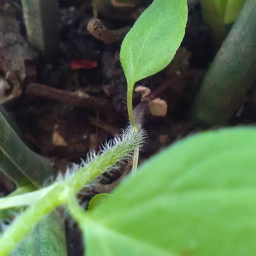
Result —
M30 182L40 187L52 176L46 158L30 150L14 132L0 111L0 170L18 186Z

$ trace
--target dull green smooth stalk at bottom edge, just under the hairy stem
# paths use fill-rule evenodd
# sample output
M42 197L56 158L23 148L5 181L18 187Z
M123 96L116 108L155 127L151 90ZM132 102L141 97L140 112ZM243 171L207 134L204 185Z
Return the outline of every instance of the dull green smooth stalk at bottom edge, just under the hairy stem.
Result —
M46 216L10 256L68 256L63 217L57 210Z

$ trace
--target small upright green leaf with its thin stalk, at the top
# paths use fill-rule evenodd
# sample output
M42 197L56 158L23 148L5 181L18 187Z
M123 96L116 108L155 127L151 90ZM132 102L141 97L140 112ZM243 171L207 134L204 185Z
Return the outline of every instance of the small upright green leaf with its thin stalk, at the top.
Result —
M171 62L184 37L187 16L187 0L154 0L124 38L120 61L128 83L127 103L132 125L134 84Z

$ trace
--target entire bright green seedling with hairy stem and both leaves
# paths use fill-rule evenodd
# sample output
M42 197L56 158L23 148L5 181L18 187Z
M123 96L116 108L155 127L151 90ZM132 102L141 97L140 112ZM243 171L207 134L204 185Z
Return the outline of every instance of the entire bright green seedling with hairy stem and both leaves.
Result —
M50 186L0 200L0 209L29 206L0 237L7 256L57 206L66 206L82 230L86 256L255 254L256 131L206 132L146 162L89 212L76 194L133 156L144 132L132 112L135 82L162 70L184 36L186 0L154 0L126 36L121 62L128 82L131 126ZM168 26L167 26L168 25ZM168 28L168 30L166 30ZM36 202L35 202L36 198ZM44 254L47 255L45 251Z

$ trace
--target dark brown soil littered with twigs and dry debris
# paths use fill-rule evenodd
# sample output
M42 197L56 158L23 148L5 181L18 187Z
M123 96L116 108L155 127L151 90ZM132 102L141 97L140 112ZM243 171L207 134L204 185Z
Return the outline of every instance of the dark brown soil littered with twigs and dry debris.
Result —
M146 113L144 127L148 137L140 163L172 142L202 129L192 124L188 112L211 54L208 29L198 1L190 1L189 7L186 35L172 64L138 83L152 90L152 98L160 97L168 105L164 117ZM89 148L97 151L100 143L120 133L128 123L126 80L118 57L120 41L105 44L88 32L87 24L94 18L90 1L60 0L60 54L54 62L46 62L26 42L21 10L18 0L0 1L0 12L8 17L1 21L5 22L1 29L8 27L7 22L8 32L13 33L12 42L8 41L4 50L1 48L0 76L15 70L21 89L4 107L12 113L28 146L48 157L56 172L65 172L70 163L86 158ZM134 23L130 17L100 19L110 29L127 28ZM83 68L76 69L81 60ZM12 89L0 90L0 100L12 93ZM234 116L232 124L254 122L254 89L250 95L252 100L246 102L242 114ZM134 105L140 102L140 93L135 92ZM87 191L82 199L89 200L121 173L106 174L100 181L102 186ZM7 194L13 189L12 182L1 175L0 191ZM79 231L67 228L67 238L69 255L82 255Z

